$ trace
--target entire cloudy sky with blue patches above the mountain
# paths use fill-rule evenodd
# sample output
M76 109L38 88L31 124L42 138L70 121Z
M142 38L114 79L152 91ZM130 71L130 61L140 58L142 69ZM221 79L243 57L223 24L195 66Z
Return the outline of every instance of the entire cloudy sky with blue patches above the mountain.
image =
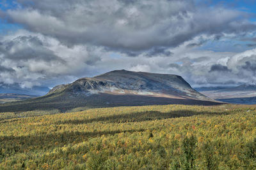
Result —
M115 69L193 87L256 81L256 4L1 0L0 83L53 87Z

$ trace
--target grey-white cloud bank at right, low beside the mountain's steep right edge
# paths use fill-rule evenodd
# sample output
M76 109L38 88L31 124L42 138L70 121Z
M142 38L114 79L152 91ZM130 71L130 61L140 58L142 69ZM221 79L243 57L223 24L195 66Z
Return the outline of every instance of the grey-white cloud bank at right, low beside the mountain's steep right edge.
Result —
M219 53L215 57L183 57L166 65L163 69L172 70L172 73L180 74L185 80L200 87L204 85L239 85L248 81L255 81L256 56L252 55L256 50L249 50L229 57L225 53ZM209 53L210 54L210 53Z

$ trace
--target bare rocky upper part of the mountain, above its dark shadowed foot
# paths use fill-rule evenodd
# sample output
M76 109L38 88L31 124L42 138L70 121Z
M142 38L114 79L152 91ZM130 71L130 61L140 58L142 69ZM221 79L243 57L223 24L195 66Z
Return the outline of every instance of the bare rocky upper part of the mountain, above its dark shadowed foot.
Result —
M82 96L113 94L209 100L208 97L192 89L181 76L124 69L110 71L93 78L81 78L67 85L58 85L48 94L60 92Z

